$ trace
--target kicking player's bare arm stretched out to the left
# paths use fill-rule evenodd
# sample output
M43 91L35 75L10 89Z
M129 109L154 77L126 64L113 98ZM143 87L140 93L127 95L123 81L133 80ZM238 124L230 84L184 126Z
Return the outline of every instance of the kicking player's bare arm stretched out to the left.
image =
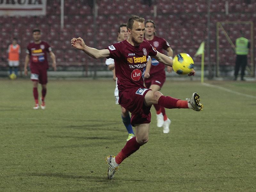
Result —
M110 54L108 49L98 50L92 47L88 47L81 37L71 39L71 45L76 49L83 50L87 55L94 59L108 57Z

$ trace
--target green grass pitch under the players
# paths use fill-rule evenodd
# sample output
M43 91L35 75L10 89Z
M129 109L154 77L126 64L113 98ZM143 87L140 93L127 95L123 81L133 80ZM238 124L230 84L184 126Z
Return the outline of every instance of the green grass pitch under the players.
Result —
M255 98L167 79L163 94L198 92L204 110L166 109L163 134L152 108L148 143L107 180L105 157L128 135L114 81L50 80L45 110L32 109L29 79L0 81L1 192L256 191ZM207 83L256 96L255 82Z

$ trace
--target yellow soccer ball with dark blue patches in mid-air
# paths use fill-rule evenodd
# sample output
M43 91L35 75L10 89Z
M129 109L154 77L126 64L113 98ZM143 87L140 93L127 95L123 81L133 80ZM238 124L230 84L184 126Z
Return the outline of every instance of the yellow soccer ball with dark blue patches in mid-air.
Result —
M179 75L189 74L194 68L194 61L187 53L179 53L173 58L173 70Z

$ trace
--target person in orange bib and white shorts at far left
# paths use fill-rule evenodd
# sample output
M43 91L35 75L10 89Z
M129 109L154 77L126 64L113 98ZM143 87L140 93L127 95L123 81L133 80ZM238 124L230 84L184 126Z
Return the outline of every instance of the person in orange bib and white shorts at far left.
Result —
M12 67L14 67L15 75L18 76L18 66L20 60L20 45L17 44L17 39L13 38L12 44L9 45L7 50L9 56L9 67L10 67L10 75L12 75Z

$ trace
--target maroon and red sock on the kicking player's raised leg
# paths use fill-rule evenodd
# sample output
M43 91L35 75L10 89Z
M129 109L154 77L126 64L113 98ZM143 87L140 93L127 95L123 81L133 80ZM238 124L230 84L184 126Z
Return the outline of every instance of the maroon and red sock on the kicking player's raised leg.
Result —
M185 105L186 104L186 105ZM188 108L188 102L185 100L176 99L169 96L162 95L158 100L158 105L173 109L173 108Z

